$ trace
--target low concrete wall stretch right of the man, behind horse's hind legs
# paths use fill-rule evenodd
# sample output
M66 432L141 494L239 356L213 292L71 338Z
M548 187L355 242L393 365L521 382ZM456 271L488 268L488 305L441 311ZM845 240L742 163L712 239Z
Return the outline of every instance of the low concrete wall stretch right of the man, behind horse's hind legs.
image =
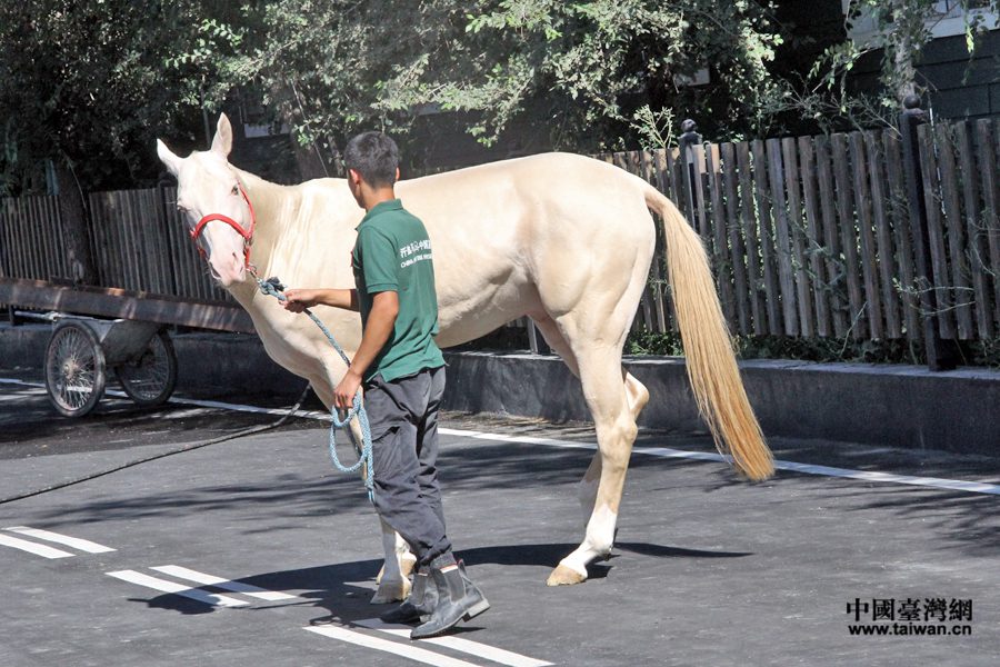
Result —
M556 357L448 355L449 409L588 420L579 382ZM650 402L640 426L707 430L682 358L626 358ZM740 362L766 435L1000 454L1000 372L912 366Z

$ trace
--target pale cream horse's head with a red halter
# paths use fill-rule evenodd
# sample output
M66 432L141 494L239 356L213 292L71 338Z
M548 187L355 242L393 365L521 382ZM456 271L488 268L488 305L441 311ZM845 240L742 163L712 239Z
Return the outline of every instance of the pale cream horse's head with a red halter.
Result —
M177 209L187 218L212 278L224 288L247 279L254 223L240 175L229 163L231 150L232 126L224 113L207 151L181 158L157 139L160 161L177 177Z

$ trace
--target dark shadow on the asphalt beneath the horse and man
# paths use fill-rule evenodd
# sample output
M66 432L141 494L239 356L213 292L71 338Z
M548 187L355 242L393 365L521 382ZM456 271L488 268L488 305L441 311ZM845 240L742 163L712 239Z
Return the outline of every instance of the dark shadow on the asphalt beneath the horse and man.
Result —
M570 542L527 544L513 546L491 546L464 549L457 554L466 565L501 565L508 567L552 567L566 554L576 548ZM684 549L648 542L619 542L616 549L654 558L742 558L751 556L743 551L706 551ZM611 559L617 554L612 554ZM311 619L311 625L341 624L351 625L360 620L378 616L388 606L372 606L370 598L374 593L374 578L382 561L380 559L356 560L333 565L322 565L291 570L276 570L251 575L239 579L264 590L294 595L294 600L280 603L259 603L247 607L231 609L262 611L274 607L313 607L323 610L322 615ZM607 563L592 563L588 566L589 579L603 579L612 569ZM232 595L231 591L214 587L200 586L201 590ZM166 609L184 615L210 614L219 609L208 603L164 594L150 599L130 598L131 601L146 603L150 608ZM476 631L474 626L462 626L460 631Z

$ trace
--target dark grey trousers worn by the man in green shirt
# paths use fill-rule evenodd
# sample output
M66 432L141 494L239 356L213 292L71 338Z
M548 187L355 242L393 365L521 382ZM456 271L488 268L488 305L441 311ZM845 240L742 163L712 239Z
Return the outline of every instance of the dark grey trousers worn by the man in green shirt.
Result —
M438 408L444 367L364 386L379 516L402 536L421 568L454 563L438 485Z

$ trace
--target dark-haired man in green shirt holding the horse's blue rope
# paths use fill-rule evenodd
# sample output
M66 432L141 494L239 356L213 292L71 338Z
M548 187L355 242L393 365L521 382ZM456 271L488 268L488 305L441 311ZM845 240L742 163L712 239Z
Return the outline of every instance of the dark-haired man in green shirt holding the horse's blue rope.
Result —
M314 306L361 311L361 345L333 400L338 409L349 410L363 385L377 462L369 470L372 502L417 556L409 598L381 618L417 623L429 616L410 637L436 637L482 614L489 603L456 561L444 530L437 469L444 357L433 339L438 297L432 250L423 223L396 198L399 151L392 139L366 132L343 155L348 187L367 211L351 251L357 287L289 289L283 305L292 312Z

